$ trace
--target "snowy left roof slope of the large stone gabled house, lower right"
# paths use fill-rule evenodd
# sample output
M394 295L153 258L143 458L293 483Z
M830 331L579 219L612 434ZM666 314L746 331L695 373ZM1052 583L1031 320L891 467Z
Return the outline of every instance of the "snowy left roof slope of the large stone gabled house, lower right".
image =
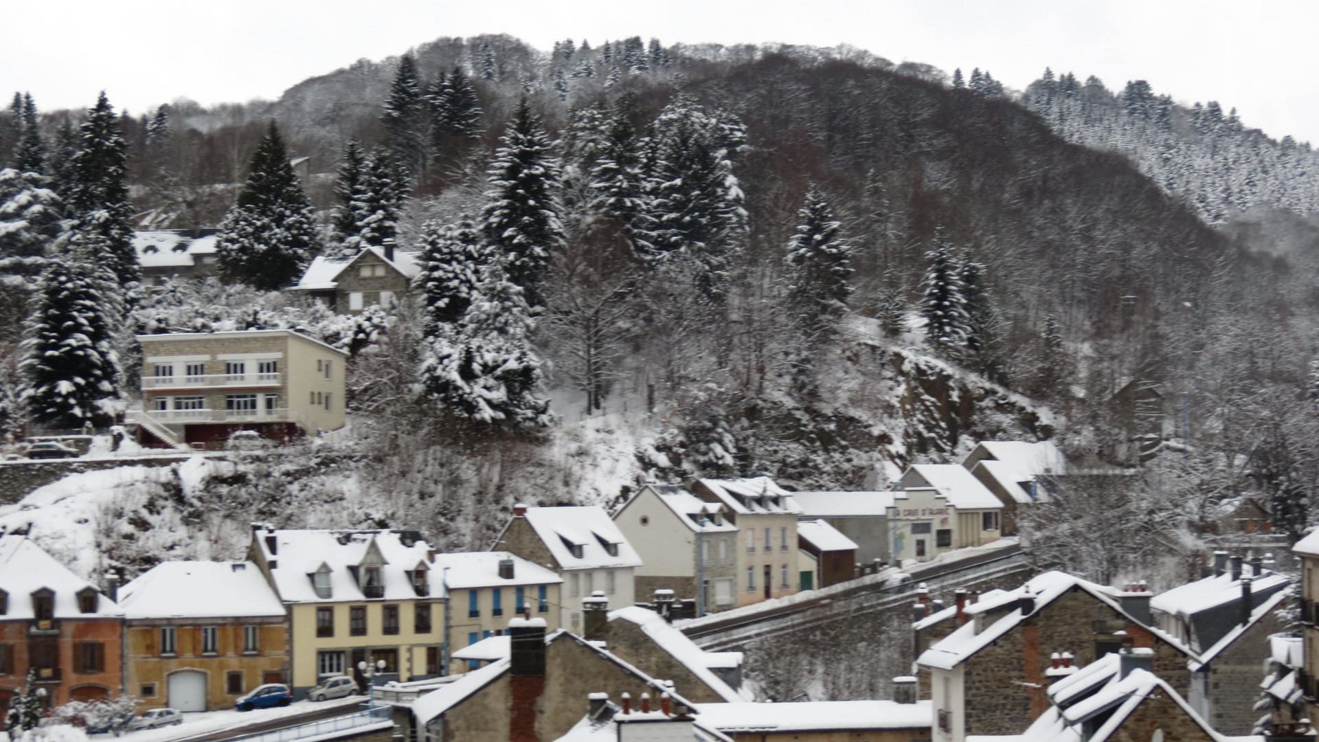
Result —
M1119 613L1122 613L1121 606L1117 603L1117 591L1112 588L1097 585L1074 574L1057 570L1037 574L1016 590L1002 590L997 594L987 593L985 595L981 595L980 601L967 606L966 613L972 617L976 614L985 614L997 609L1012 606L1024 597L1034 598L1034 610L1038 611L1072 588L1086 590L1100 602L1107 603ZM917 661L925 667L952 669L993 640L1012 631L1024 618L1025 617L1021 614L1021 609L1013 607L992 624L984 626L979 634L976 632L976 622L968 621L922 652Z

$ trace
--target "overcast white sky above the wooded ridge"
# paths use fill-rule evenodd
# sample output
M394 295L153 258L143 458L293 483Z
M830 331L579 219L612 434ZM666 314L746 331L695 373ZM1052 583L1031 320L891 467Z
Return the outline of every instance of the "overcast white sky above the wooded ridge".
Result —
M1219 100L1270 136L1319 144L1314 0L37 0L9 4L0 98L42 110L99 90L135 114L185 96L277 98L359 58L441 36L508 33L541 49L640 34L665 44L852 44L1021 88L1043 67L1148 79Z

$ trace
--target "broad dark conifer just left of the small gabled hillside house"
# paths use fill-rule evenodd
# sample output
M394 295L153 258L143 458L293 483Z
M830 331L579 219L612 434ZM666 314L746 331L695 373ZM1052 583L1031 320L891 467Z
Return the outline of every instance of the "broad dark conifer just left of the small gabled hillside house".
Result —
M215 243L220 271L257 289L274 290L293 283L317 252L311 205L272 119L237 203L220 224Z

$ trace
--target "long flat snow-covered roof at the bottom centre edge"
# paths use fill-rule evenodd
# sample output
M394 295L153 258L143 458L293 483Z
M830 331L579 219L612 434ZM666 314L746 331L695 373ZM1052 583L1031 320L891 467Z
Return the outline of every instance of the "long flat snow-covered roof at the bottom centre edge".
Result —
M805 701L696 704L702 724L725 734L930 729L931 701Z

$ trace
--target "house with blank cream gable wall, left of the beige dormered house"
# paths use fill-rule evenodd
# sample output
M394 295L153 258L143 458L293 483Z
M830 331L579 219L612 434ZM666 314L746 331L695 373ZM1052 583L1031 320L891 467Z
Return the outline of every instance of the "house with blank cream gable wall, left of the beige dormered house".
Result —
M727 506L706 502L683 485L646 485L613 514L641 556L638 595L673 590L696 615L737 605L737 527ZM698 586L699 585L699 586Z

